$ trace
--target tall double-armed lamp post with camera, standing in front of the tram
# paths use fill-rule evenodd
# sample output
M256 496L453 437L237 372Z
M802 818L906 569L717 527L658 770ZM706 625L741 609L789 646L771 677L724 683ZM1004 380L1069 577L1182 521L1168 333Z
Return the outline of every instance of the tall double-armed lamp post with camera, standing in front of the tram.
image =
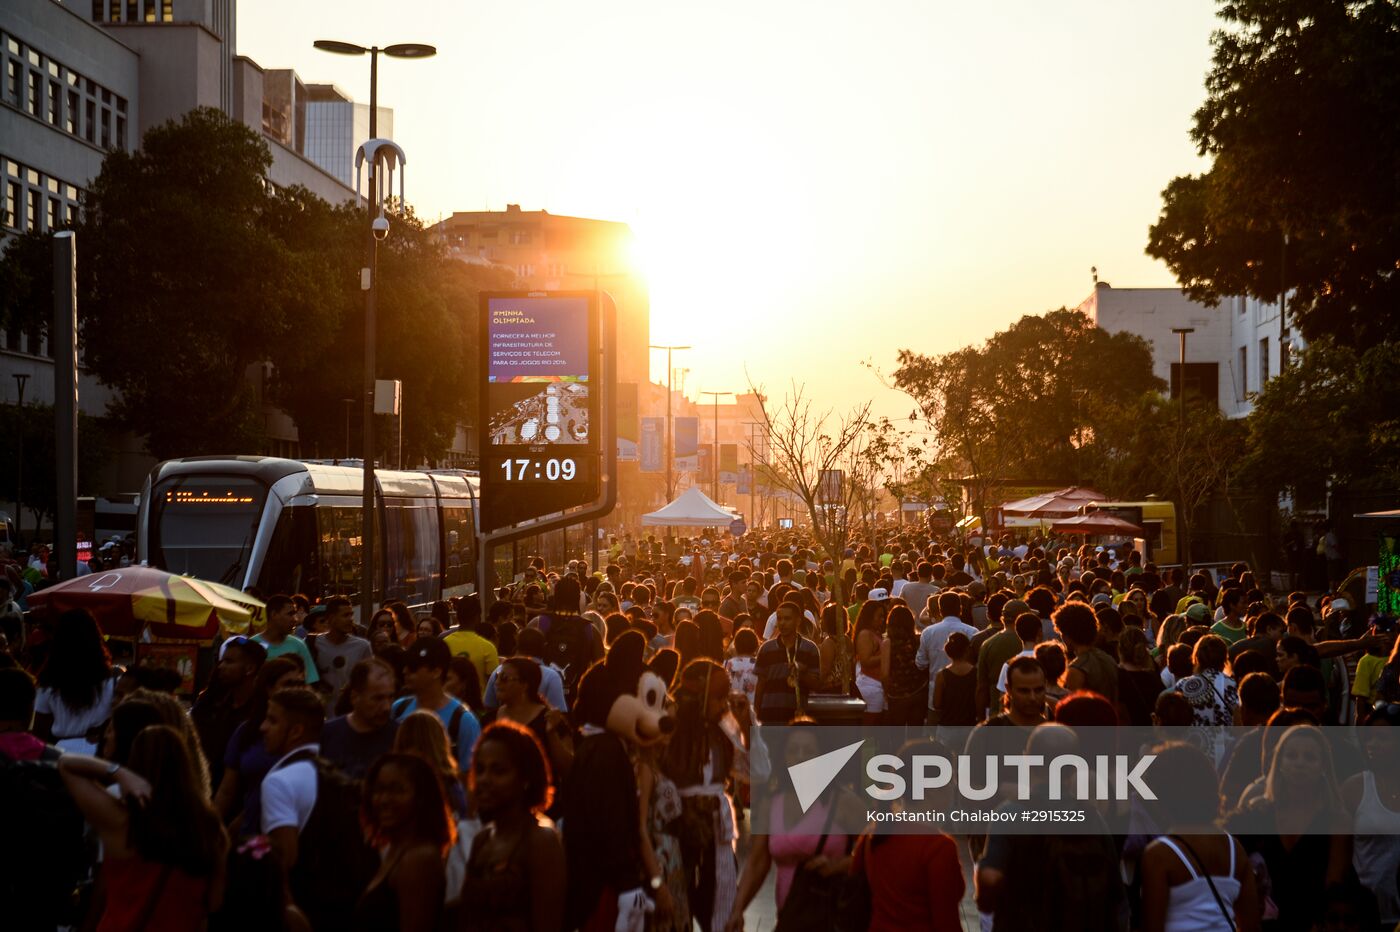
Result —
M367 263L360 271L360 287L364 290L364 491L360 518L360 619L368 623L374 614L374 369L375 369L375 308L374 288L378 273L379 241L389 235L389 221L384 216L385 188L392 192L392 172L395 165L405 164L403 150L389 140L379 139L379 53L392 59L427 59L437 55L431 45L414 42L379 48L372 45L365 48L351 42L337 42L333 39L316 39L312 45L322 52L336 55L370 55L370 140L356 153L356 179L358 182L360 165L370 162L370 238L365 250ZM395 162L398 157L398 162ZM381 183L379 161L385 162L389 171L389 185ZM358 188L358 183L357 183ZM356 192L358 200L358 190ZM403 175L399 175L399 200L403 200ZM400 203L402 209L403 204Z

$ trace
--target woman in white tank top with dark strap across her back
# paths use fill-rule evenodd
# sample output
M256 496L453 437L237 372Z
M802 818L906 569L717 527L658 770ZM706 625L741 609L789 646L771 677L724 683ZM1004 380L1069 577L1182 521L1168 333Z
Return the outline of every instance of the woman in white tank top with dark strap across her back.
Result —
M1152 749L1158 819L1142 852L1142 932L1257 932L1259 897L1243 847L1215 824L1219 791L1205 754L1184 743Z

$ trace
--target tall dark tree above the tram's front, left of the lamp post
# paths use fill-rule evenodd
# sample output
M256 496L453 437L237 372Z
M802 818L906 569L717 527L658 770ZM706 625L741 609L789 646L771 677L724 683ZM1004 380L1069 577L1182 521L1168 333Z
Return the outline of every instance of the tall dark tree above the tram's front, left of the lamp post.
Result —
M87 364L158 459L256 449L248 369L305 330L302 269L269 225L267 144L200 108L112 150L78 232Z

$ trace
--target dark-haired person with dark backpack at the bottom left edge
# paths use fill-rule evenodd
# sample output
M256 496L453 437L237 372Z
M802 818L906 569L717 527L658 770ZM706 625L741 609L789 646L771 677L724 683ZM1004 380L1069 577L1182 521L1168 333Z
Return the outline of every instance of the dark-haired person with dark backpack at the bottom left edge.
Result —
M97 855L59 777L63 751L29 733L35 696L34 677L0 669L0 799L8 838L0 844L0 903L4 928L14 932L76 925L74 891Z

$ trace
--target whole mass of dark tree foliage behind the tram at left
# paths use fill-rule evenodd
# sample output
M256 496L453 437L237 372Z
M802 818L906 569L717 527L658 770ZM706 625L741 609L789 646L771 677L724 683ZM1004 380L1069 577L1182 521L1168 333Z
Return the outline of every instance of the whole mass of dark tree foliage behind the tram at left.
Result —
M160 458L263 448L263 402L294 418L305 455L339 456L354 399L360 455L368 218L266 182L267 144L196 109L112 151L78 230L85 362L118 392L109 411ZM475 411L476 309L510 274L449 259L403 211L379 245L377 374L403 382L406 463L437 462ZM50 236L11 241L0 323L42 325ZM270 369L263 369L270 362ZM392 418L378 431L393 462Z

